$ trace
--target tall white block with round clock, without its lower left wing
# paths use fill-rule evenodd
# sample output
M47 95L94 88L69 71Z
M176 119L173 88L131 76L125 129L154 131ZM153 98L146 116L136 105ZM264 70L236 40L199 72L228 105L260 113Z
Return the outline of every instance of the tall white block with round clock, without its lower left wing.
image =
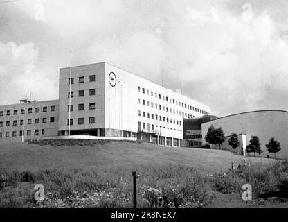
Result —
M69 76L70 67L60 69L61 135L69 128ZM72 67L71 78L71 135L138 137L179 146L183 118L210 114L209 106L106 62Z

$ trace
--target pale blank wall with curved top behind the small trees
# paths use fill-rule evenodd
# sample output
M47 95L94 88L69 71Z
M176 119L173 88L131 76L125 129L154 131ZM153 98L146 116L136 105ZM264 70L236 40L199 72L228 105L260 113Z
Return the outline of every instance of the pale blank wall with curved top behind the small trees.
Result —
M271 137L275 137L281 144L281 151L276 157L288 159L288 112L280 110L261 110L255 112L244 112L231 116L215 119L202 124L202 141L206 144L205 136L209 126L222 127L226 136L231 133L246 135L246 144L249 144L251 135L258 136L261 149L264 151L262 157L267 157L267 148ZM268 153L273 157L273 153ZM253 155L253 154L252 154Z

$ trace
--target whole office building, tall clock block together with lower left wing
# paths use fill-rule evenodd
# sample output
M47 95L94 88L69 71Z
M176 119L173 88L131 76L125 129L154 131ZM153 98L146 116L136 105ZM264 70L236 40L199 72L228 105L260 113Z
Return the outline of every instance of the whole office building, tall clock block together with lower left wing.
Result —
M25 139L93 135L179 146L183 119L208 114L208 105L101 62L60 69L59 100L0 106L0 143L24 132Z

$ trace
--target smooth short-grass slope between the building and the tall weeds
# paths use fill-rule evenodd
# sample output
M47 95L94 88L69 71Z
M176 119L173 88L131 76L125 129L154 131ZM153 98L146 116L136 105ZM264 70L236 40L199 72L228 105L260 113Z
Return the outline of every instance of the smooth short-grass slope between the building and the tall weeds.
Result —
M168 148L137 142L109 142L95 146L40 146L16 142L0 144L0 168L38 171L39 169L103 169L109 167L165 166L181 164L199 173L227 171L234 162L273 162L271 159L242 157L228 151L199 148Z

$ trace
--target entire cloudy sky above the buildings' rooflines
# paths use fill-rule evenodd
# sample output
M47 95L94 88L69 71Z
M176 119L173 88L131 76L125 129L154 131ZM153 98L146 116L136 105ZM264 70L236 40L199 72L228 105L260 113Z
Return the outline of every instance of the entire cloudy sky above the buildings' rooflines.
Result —
M288 1L0 0L0 105L58 98L60 67L109 62L219 117L288 110ZM181 84L182 80L182 84Z

